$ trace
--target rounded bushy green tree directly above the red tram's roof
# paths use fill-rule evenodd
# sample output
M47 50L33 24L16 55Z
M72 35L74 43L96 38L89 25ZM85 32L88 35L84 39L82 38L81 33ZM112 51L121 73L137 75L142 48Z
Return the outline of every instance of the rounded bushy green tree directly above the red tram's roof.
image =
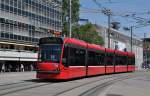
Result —
M73 28L73 37L97 45L104 45L104 40L98 35L96 27L91 23Z

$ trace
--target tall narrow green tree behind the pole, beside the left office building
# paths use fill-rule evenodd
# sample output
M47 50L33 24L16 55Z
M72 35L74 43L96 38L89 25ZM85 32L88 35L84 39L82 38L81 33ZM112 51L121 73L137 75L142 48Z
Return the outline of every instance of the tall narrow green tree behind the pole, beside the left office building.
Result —
M69 1L70 0L62 0L62 33L66 36L69 35ZM72 1L72 25L76 26L79 20L79 0L71 0Z

